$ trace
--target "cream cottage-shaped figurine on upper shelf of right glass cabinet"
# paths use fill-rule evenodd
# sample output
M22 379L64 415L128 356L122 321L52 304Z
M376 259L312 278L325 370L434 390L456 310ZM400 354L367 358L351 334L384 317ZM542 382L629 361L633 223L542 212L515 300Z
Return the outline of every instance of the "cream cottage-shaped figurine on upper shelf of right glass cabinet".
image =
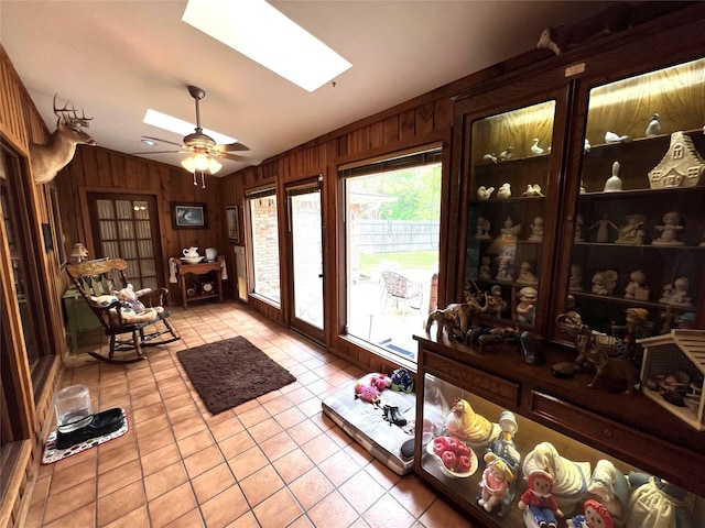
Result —
M663 160L649 173L649 185L652 189L695 187L703 173L705 161L695 150L691 136L673 132Z

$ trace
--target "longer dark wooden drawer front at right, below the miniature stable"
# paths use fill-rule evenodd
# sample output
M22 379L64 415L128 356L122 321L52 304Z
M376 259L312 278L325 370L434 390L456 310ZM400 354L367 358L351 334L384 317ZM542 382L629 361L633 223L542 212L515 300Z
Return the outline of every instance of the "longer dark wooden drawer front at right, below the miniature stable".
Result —
M641 470L658 474L676 485L687 486L699 495L705 493L705 483L683 482L683 475L692 474L693 468L704 466L704 453L681 448L538 392L531 393L531 414L543 422L558 426L558 430L576 440ZM693 490L694 485L696 490Z

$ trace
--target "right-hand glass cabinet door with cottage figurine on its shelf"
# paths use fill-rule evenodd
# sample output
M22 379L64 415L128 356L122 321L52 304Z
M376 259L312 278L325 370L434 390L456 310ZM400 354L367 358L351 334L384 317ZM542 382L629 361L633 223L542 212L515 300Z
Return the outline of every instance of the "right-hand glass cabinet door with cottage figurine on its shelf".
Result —
M705 59L589 91L567 289L594 330L703 328L703 101Z

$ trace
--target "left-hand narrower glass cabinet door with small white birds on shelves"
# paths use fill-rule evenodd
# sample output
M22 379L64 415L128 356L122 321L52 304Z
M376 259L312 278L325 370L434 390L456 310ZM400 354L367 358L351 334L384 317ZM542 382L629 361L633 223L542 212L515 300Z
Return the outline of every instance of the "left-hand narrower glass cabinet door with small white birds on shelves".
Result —
M470 127L465 297L487 293L485 316L536 326L556 102L477 119ZM495 321L501 322L501 321Z

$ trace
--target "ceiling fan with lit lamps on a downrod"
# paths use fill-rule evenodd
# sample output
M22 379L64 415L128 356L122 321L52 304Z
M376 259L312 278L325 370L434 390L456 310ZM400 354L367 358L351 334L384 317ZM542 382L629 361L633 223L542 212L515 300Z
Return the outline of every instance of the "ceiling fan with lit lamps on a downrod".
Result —
M218 157L232 160L236 162L246 161L247 157L240 156L238 154L232 154L232 152L249 151L250 148L248 146L243 145L240 142L218 145L213 138L204 133L200 127L200 107L198 101L206 97L205 90L203 88L198 88L197 86L188 86L188 94L191 94L191 97L193 97L196 101L196 130L193 133L184 136L184 140L181 144L173 141L163 140L161 138L151 138L149 135L142 136L145 140L176 145L180 147L180 150L138 152L135 154L191 154L182 162L184 168L189 172L208 170L210 172L210 174L215 174L220 169L220 164L216 162Z

